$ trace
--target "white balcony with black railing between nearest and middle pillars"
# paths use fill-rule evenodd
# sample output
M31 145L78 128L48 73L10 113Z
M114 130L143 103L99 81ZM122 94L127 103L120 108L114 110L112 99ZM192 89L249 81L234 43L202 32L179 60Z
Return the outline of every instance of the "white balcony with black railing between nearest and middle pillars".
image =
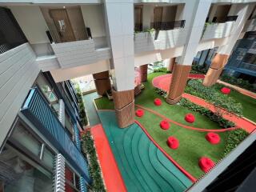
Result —
M166 50L176 46L183 46L186 42L187 31L184 29L185 21L154 22L154 30L134 34L135 54L152 51Z

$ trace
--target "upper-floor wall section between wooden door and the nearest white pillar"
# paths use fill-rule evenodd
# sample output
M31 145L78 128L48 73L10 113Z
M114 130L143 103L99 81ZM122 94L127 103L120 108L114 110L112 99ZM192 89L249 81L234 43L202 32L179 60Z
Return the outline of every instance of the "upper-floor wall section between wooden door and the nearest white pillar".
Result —
M104 9L100 5L81 6L86 27L90 27L93 38L106 36Z

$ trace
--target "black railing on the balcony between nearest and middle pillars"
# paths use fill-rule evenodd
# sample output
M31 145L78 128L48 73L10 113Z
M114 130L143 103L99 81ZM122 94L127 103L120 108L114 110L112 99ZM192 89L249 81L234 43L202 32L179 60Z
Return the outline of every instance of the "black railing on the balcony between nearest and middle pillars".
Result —
M176 28L184 28L185 20L173 22L151 22L151 28L155 30L174 30Z

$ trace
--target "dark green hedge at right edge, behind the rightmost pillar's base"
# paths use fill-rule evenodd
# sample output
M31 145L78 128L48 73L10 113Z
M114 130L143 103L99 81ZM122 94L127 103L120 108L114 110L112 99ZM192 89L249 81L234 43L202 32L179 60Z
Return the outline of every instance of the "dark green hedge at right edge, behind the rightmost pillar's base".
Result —
M221 77L221 80L223 82L228 82L234 86L240 86L246 90L250 90L253 92L256 92L256 89L254 88L253 84L250 84L250 82L243 80L242 78L234 78L232 76L229 76L227 74L223 74Z

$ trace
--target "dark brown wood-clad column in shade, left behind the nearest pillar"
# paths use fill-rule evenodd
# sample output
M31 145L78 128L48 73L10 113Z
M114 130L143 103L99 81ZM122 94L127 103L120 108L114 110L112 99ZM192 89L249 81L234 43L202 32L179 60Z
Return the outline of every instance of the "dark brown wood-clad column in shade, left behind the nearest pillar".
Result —
M111 90L110 73L108 70L93 74L93 77L98 94L104 95L107 90Z

